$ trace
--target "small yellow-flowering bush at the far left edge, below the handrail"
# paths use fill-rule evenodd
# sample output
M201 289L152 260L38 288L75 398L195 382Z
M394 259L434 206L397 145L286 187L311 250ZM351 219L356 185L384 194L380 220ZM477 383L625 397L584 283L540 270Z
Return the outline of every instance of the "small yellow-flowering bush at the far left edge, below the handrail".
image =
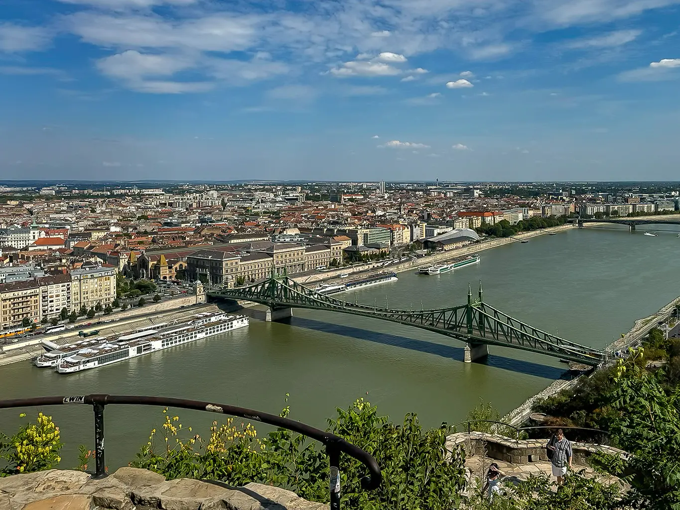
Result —
M26 414L19 416L25 418ZM21 426L12 437L0 433L0 459L8 464L1 473L15 475L53 469L61 461L59 451L63 446L52 416L39 413L35 424Z

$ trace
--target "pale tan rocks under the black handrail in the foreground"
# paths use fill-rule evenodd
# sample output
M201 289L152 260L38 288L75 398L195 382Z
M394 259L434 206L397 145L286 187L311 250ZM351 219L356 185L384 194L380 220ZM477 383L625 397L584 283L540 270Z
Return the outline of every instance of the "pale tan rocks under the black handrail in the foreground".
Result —
M248 483L166 480L146 469L123 467L101 480L81 471L39 471L0 478L0 510L328 510L294 492Z

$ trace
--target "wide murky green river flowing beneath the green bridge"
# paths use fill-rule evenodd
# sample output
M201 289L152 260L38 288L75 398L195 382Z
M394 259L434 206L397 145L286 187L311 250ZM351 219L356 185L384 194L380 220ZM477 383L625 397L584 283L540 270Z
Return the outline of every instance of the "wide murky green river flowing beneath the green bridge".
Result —
M602 347L680 294L680 239L671 226L573 229L481 252L477 266L439 276L401 273L399 281L360 290L360 302L390 307L458 305L468 282L483 280L484 299L534 326ZM345 299L354 301L353 294ZM290 393L291 418L325 427L335 407L356 398L399 421L409 411L427 426L464 420L483 398L501 413L542 390L565 369L558 360L490 347L486 364L464 364L462 343L416 328L330 312L299 311L290 324L252 320L222 337L174 347L73 375L29 362L0 368L1 398L54 394L163 395L277 413ZM368 394L367 394L368 392ZM75 464L77 445L93 444L91 407L51 407ZM173 412L173 411L171 411ZM19 423L0 411L0 430ZM107 464L133 460L149 430L162 423L154 407L107 407ZM173 412L173 414L175 414ZM180 411L184 426L205 435L216 415Z

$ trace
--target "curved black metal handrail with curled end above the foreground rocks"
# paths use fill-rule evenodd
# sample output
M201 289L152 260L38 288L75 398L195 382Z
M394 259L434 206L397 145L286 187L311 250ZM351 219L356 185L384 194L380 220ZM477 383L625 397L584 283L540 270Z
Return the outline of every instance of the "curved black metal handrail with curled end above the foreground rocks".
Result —
M12 407L34 407L41 405L70 405L84 404L92 405L95 412L95 475L92 478L103 478L106 476L105 452L104 452L104 407L112 404L122 405L158 405L163 407L178 407L181 409L195 409L197 411L208 411L233 416L239 416L246 420L273 425L280 428L293 430L301 435L311 437L326 447L330 464L330 509L340 509L340 453L356 458L366 466L369 474L360 479L364 490L375 490L380 485L382 475L380 466L375 462L375 458L361 448L348 443L345 439L314 428L312 426L295 422L279 415L262 413L246 407L236 407L233 405L218 404L205 401L186 400L184 398L169 398L164 396L135 396L135 395L108 395L90 394L74 396L41 396L36 398L16 398L13 400L0 401L0 409Z

